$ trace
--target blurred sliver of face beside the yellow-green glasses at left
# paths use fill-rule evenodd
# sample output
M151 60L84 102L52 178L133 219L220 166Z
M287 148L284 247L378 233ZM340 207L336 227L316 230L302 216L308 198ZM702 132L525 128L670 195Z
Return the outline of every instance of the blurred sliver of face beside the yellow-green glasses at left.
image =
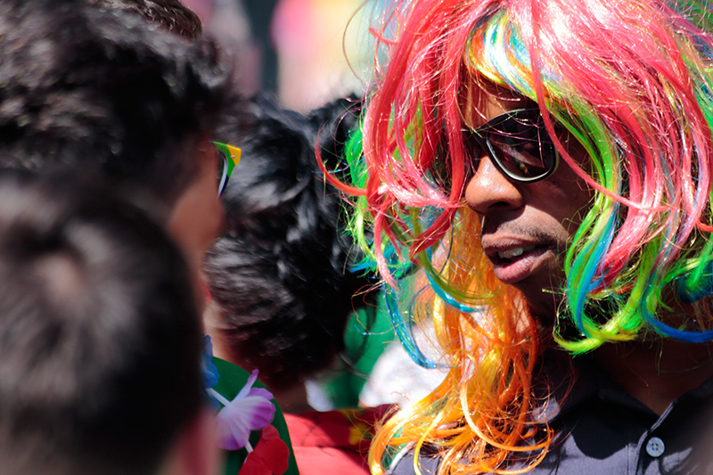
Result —
M198 167L168 217L168 233L178 243L195 274L196 283L206 251L223 231L225 216L217 197L217 151L208 139L199 142Z

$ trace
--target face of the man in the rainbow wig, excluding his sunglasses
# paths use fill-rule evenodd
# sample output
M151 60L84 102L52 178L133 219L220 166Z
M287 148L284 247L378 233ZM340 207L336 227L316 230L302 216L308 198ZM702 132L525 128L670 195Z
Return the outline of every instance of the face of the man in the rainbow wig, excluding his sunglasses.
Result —
M532 105L502 90L480 91L471 94L463 111L466 125L476 128L505 111ZM573 158L585 159L576 141L560 138ZM479 162L465 201L478 214L482 248L496 277L522 292L541 322L552 323L561 300L564 253L589 206L591 189L563 160L551 176L518 183L504 176L488 153L474 155Z

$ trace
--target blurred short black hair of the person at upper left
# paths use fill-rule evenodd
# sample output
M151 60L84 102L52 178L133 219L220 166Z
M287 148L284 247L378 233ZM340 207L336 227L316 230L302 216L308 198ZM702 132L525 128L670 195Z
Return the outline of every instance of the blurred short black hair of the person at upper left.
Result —
M169 209L230 102L232 66L135 13L0 2L0 163L94 170Z

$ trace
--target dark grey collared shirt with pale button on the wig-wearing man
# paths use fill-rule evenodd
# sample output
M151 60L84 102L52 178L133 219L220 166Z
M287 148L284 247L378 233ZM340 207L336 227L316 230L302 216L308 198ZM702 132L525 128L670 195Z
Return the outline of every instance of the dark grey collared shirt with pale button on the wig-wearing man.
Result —
M713 378L655 414L612 383L591 358L575 359L578 377L553 389L536 418L555 436L535 475L713 474ZM562 381L545 371L550 384ZM566 396L565 396L566 395ZM414 474L413 456L392 473ZM420 457L423 475L438 471L438 456ZM518 468L512 464L510 469Z

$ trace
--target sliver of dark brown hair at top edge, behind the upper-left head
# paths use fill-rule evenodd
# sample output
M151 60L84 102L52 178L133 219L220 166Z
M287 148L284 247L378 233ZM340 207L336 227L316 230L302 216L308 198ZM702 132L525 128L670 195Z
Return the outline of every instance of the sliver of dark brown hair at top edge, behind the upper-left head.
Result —
M179 0L86 0L105 8L135 12L182 37L201 36L201 19Z

